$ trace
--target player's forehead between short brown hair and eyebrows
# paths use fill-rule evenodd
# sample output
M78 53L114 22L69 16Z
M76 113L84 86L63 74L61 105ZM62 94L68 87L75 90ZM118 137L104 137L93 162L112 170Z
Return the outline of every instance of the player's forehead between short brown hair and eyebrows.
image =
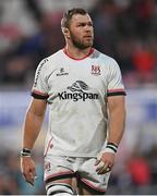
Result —
M92 22L92 19L88 14L82 15L82 14L74 14L71 19L72 23L88 23Z

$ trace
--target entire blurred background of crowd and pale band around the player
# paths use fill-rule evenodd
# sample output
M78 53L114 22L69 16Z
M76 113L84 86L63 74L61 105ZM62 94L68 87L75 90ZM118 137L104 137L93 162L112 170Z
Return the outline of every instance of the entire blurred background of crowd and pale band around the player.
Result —
M20 172L23 121L37 64L64 47L62 12L76 7L88 10L94 47L118 61L128 93L125 134L107 194L157 194L157 0L0 0L0 194L45 194L48 118L33 150L34 187Z

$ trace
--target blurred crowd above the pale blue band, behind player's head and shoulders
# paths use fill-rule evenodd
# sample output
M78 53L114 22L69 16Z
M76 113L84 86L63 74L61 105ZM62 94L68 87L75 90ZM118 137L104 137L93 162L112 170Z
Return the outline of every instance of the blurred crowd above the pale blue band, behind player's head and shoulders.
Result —
M38 62L64 46L60 29L63 10L46 12L35 0L22 2L25 15L32 17L21 23L26 23L29 30L17 22L4 22L8 17L1 9L0 83L27 87ZM95 26L94 46L117 59L126 86L156 83L157 1L96 2L89 10Z

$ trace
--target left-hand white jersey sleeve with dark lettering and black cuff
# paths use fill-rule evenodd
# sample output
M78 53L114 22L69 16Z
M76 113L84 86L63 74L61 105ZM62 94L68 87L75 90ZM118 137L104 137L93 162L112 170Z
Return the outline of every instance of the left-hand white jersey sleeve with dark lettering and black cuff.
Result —
M35 73L35 79L32 88L32 96L35 99L47 99L48 98L48 86L46 79L46 64L48 59L44 59Z

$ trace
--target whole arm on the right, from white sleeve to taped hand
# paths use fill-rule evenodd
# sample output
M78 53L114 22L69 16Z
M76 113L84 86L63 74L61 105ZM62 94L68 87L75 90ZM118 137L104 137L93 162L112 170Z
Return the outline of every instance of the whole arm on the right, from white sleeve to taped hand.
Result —
M109 59L108 68L108 74L106 75L108 82L107 107L109 111L108 143L97 158L98 173L105 173L112 168L114 155L124 132L125 122L125 91L121 71L113 59Z

